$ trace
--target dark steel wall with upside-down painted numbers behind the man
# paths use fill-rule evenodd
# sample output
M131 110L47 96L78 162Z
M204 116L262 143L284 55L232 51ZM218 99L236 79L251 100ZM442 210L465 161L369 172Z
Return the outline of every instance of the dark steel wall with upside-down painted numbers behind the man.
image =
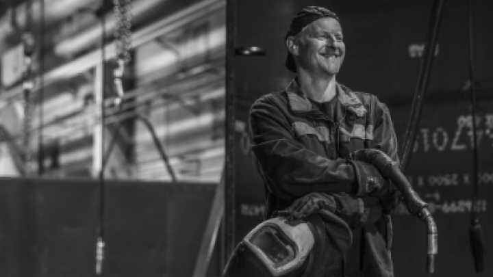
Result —
M322 5L340 17L346 57L338 81L375 94L392 114L399 143L409 119L431 11L429 0L235 0L234 47L256 46L264 56L233 59L236 107L234 239L238 242L264 213L264 187L252 163L248 140L251 104L262 94L286 87L293 75L284 67L283 38L292 16ZM475 70L479 81L479 217L490 276L493 250L493 28L489 0L472 1ZM468 226L472 205L472 148L468 103L468 1L445 2L438 51L425 96L414 156L407 175L430 203L438 224L439 254L434 276L472 276ZM248 178L247 178L248 176ZM425 276L426 228L405 209L396 210L392 247L396 276Z

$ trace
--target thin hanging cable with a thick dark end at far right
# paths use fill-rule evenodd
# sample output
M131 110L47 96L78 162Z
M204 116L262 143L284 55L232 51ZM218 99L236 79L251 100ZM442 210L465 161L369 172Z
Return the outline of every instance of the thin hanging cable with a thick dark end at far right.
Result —
M469 239L472 256L475 261L476 273L484 272L483 264L483 228L479 224L477 215L477 201L479 186L477 182L477 131L476 131L476 79L474 75L474 36L472 32L472 0L468 1L469 11L469 79L470 79L470 114L472 121L472 184L474 192L472 195L471 222L469 228Z

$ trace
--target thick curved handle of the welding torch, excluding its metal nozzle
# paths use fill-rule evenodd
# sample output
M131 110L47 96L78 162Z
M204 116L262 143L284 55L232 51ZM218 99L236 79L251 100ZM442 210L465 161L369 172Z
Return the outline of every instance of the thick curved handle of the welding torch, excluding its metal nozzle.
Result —
M349 156L356 161L370 163L379 170L383 177L390 179L392 183L394 183L396 189L401 192L405 205L412 215L418 215L423 208L427 207L427 203L419 197L418 193L412 188L411 183L407 181L404 174L401 172L398 163L390 159L390 157L381 150L361 149L356 150ZM393 201L389 199L386 200L390 203Z

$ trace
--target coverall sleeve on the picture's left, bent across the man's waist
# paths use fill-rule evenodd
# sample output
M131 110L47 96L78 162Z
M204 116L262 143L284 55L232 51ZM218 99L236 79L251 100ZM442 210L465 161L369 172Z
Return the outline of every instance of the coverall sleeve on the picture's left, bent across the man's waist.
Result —
M275 196L292 201L310 192L355 193L355 170L346 159L330 160L294 139L292 127L268 96L250 111L252 150Z

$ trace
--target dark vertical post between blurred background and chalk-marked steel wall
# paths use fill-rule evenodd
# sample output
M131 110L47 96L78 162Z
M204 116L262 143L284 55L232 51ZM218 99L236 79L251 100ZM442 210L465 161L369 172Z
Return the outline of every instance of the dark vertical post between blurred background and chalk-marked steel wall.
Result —
M235 73L236 0L226 2L225 261L235 246Z

